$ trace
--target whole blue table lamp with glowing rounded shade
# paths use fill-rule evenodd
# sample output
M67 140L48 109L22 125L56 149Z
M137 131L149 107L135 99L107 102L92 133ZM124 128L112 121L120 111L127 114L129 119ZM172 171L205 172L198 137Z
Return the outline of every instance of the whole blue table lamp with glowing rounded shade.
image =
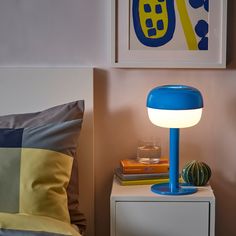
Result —
M203 99L196 88L185 85L164 85L152 89L147 97L150 121L170 128L170 181L155 184L152 191L164 195L185 195L197 192L196 187L179 184L179 128L196 125L202 115Z

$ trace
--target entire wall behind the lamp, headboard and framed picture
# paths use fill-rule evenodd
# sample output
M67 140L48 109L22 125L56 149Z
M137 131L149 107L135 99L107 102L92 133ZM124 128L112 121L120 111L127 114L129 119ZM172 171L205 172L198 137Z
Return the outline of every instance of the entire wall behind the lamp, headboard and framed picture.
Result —
M0 66L100 68L95 70L97 236L109 235L109 195L119 160L135 155L137 140L146 135L161 137L167 152L168 131L154 127L146 115L148 90L166 83L199 88L205 110L196 127L181 130L181 165L195 158L211 166L216 236L235 235L236 1L228 0L226 70L108 68L108 6L107 0L2 0Z

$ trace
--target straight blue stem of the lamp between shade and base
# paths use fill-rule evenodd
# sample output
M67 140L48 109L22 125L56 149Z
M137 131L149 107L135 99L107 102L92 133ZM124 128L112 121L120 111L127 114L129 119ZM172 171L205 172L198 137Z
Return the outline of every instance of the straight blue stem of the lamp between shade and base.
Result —
M170 128L170 183L171 192L179 189L179 129Z

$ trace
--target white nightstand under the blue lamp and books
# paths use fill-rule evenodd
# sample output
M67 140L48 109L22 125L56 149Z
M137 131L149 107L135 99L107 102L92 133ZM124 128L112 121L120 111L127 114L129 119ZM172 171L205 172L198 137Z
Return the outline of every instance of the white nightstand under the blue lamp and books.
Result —
M111 236L215 235L215 196L210 186L183 196L158 195L150 187L121 186L114 178Z

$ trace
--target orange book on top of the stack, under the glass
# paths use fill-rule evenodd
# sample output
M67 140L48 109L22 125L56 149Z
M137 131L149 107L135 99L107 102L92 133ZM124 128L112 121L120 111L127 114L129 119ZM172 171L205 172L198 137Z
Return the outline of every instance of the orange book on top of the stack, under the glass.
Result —
M137 159L123 159L120 161L121 170L125 174L165 173L169 172L169 161L162 158L158 163L144 164Z

